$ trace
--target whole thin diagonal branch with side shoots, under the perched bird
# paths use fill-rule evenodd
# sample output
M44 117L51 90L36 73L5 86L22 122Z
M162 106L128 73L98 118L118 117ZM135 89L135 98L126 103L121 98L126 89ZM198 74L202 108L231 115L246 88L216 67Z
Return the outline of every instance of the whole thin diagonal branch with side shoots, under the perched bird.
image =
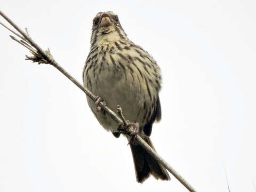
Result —
M31 37L28 34L28 30L26 29L26 33L24 31L22 31L11 19L9 19L2 11L0 11L0 15L2 15L2 17L9 22L17 31L19 31L19 33L23 36L20 36L19 34L15 33L14 31L12 31L11 29L9 29L10 31L12 31L12 33L14 33L15 35L17 35L18 37L20 37L21 39L23 39L23 41L18 41L18 39L13 38L15 41L19 42L20 44L22 44L23 46L25 46L27 49L34 47L36 49L36 52L33 48L29 49L31 53L33 53L34 57L27 57L28 60L32 60L33 62L38 62L38 63L47 63L52 65L53 67L57 68L63 75L65 75L68 79L70 79L71 82L73 82L76 86L79 87L79 89L81 89L87 96L89 96L93 101L97 100L97 97L90 92L89 90L87 90L83 85L81 85L74 77L72 77L65 69L63 69L58 63L57 61L55 61L50 53L49 50L47 51L43 51L41 49L41 47L39 47L34 41L33 39L31 39ZM1 23L2 25L2 23ZM29 45L28 45L29 44ZM31 46L31 47L30 47ZM121 115L122 114L122 109L118 108L118 114L121 116L118 117L114 111L112 111L110 108L108 108L107 106L104 105L103 102L99 102L99 106L101 106L102 108L105 108L105 111L108 115L110 115L111 118L114 119L114 121L116 121L117 123L119 123L122 127L123 127L123 131L124 134L126 135L130 135L130 130L127 130L127 126L125 126L124 124L126 124L124 116ZM153 156L159 163L161 163L171 174L174 175L174 177L176 179L178 179L183 186L185 186L189 191L193 191L195 192L196 190L184 179L181 177L181 175L175 171L167 162L164 161L164 159L159 156L156 151L154 149L152 149L139 135L137 135L137 137L135 137L137 139L137 142L145 149L148 151L148 153Z

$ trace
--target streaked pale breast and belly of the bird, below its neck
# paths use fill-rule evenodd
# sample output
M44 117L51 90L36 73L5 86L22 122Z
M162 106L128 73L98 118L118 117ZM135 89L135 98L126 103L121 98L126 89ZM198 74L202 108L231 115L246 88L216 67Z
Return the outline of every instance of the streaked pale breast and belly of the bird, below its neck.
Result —
M122 50L117 49L116 43ZM126 45L121 43L115 41L98 46L91 59L86 61L84 85L104 99L111 110L116 111L117 105L120 105L127 120L143 126L156 108L161 83L160 71L147 52L138 47L126 50ZM147 65L141 62L142 59L146 59ZM87 101L99 123L106 130L118 132L119 125L102 111L97 112L91 99L87 98Z

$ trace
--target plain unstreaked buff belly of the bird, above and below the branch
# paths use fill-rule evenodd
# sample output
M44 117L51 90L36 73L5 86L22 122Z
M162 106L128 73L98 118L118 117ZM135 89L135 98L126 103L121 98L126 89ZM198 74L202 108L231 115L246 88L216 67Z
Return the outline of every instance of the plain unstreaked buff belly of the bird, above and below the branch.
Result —
M119 105L126 120L143 124L143 94L129 76L127 77L122 70L106 69L95 78L91 76L91 79L91 91L105 100L106 106L115 112ZM91 99L87 98L87 101L99 123L105 129L117 132L119 124L102 111L97 112L95 103Z

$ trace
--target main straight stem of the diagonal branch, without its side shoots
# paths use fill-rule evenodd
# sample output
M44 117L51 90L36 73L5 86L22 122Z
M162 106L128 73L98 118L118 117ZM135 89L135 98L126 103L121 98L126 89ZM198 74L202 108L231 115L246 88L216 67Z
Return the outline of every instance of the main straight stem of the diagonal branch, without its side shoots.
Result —
M51 64L52 66L54 66L55 68L57 68L63 75L65 75L68 79L70 79L70 81L72 81L76 86L79 87L79 89L81 89L87 96L89 96L93 101L97 100L97 97L92 94L89 90L87 90L83 85L81 85L74 77L72 77L65 69L63 69L52 57L52 55L50 54L50 52L44 52L41 47L39 47L34 41L33 39L31 39L26 33L24 33L17 25L15 25L15 23L9 19L2 11L0 11L0 15L2 15L2 17L9 22L15 29L17 29L17 31L19 31L19 33L25 38L27 39L27 41L29 42L29 44L33 47L35 47L35 49L38 51L39 54L42 55L43 59L45 59L47 61L47 63ZM23 38L22 38L23 39ZM107 112L107 114L110 115L111 118L114 119L114 121L116 121L117 123L124 125L123 119L119 118L110 108L106 107L104 105L103 102L99 103L99 106L101 106L102 108L105 108L105 111ZM172 173L174 175L175 178L177 178L183 186L185 186L189 191L196 191L185 179L183 179L181 177L181 175L175 171L167 162L164 161L164 159L162 157L160 157L156 151L154 149L152 149L139 135L137 135L136 137L137 142L143 147L145 148L148 153L154 157L159 163L161 163L168 171L170 171L170 173Z

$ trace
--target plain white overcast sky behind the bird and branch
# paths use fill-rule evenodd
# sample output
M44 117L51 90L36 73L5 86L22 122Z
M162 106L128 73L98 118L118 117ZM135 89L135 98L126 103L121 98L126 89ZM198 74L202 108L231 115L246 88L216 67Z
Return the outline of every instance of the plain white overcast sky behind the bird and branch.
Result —
M94 15L117 13L163 72L158 153L198 191L228 191L223 162L232 192L255 191L256 2L67 2L0 6L80 82ZM173 176L137 183L126 139L103 130L59 71L25 61L9 34L0 26L0 191L186 191Z

